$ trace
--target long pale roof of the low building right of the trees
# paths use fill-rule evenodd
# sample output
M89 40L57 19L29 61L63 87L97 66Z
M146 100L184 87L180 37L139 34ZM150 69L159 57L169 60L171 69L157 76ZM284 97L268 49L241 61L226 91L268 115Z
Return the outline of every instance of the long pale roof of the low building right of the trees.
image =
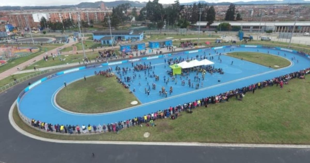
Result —
M205 21L201 21L201 22L197 22L196 25L199 26L200 25L207 25L208 22ZM214 23L211 24L211 26L218 26L220 23L224 23L224 22L219 22L219 21L215 21ZM225 23L229 23L232 26L259 26L260 25L264 25L264 26L293 26L294 25L294 21L225 21ZM296 21L297 26L310 26L310 21Z

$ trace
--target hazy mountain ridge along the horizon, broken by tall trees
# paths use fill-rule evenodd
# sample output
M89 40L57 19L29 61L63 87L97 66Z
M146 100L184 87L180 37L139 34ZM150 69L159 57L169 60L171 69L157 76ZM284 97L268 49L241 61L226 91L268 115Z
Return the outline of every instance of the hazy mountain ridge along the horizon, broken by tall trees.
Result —
M78 8L99 8L99 5L103 1L98 2L81 2L77 5L62 5L62 6L24 6L24 10L32 10L32 9L64 9L64 8L71 8L71 7L78 7ZM197 1L197 2L188 2L188 3L181 3L181 5L192 5L194 3L205 3L208 5L229 5L231 2L219 2L219 3L209 3L206 1ZM113 1L113 2L104 2L106 7L116 7L119 4L123 3L130 3L132 7L144 7L147 2L139 2L139 1L128 1L128 0L120 0L120 1ZM236 5L259 5L259 4L304 4L310 3L310 1L304 0L282 0L282 1L251 1L251 2L234 2ZM0 11L2 10L20 10L20 6L0 6Z

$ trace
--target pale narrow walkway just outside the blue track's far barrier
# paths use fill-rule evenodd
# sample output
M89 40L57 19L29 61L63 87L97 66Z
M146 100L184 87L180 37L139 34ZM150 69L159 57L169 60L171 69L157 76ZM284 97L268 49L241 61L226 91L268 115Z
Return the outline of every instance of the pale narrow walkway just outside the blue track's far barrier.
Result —
M201 46L200 48L202 48L202 47L204 47L204 46ZM182 50L190 50L190 49L194 49L194 48L184 48L184 49L183 48L176 48L174 52L178 52L178 51L182 51ZM170 52L166 48L161 48L161 51L162 51L162 53ZM154 50L152 53L148 53L147 52L145 56L154 55L154 54L156 54L156 50ZM158 52L158 54L159 54L159 52ZM139 55L139 56L141 56L141 55ZM113 57L109 61L113 61L113 60L116 60L116 59L126 59L126 58L129 58L129 55L125 56L125 58L115 58L115 57ZM102 62L100 62L100 63L102 63ZM72 66L77 66L77 65L83 66L84 64L79 64L78 62L76 62L76 63L64 64L64 65L59 65L59 66L42 67L42 68L40 68L39 70L36 70L36 71L33 70L33 69L31 69L31 70L24 70L24 71L17 71L14 74L22 74L22 73L28 73L28 72L37 72L37 71L58 69L58 68L64 68L64 67L72 67Z

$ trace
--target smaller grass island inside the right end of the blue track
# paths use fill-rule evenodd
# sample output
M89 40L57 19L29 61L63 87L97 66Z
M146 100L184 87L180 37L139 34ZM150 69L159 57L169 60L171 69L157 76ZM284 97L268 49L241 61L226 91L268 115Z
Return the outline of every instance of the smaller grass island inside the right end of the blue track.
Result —
M288 61L287 59L260 52L231 52L227 53L227 55L230 57L254 62L263 66L271 66L274 69L290 66L290 61ZM279 67L275 67L275 65Z

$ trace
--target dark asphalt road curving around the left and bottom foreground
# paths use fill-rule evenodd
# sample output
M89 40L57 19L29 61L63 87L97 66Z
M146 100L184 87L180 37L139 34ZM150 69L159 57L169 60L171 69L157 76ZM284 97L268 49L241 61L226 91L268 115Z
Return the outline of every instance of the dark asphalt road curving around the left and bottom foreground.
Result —
M49 74L30 79L30 82L46 75ZM297 148L64 144L57 143L57 140L55 143L39 141L17 132L8 120L12 103L27 84L28 81L25 81L7 90L7 93L0 94L0 162L305 163L310 160L310 149ZM95 153L95 157L92 157L92 153Z

